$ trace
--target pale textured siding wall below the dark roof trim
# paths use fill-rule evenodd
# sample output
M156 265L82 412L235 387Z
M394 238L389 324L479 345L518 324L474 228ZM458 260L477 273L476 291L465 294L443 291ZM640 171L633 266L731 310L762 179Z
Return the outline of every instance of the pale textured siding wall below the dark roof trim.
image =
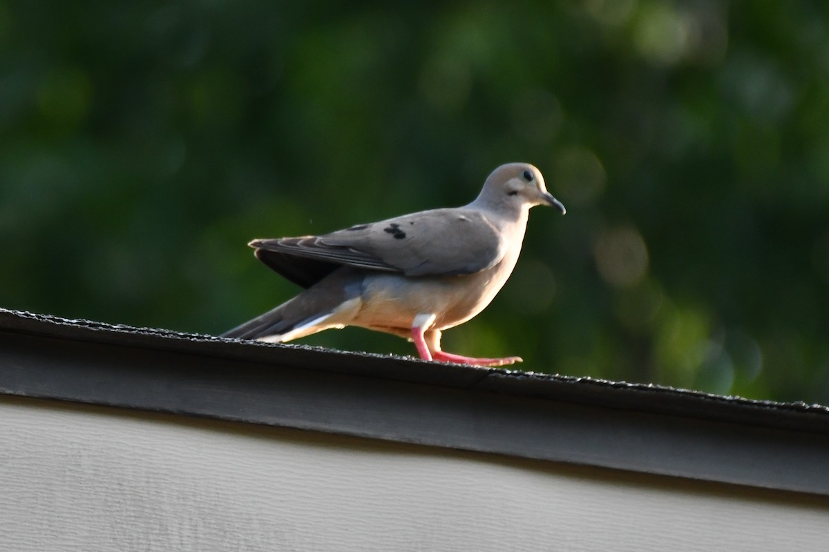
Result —
M0 547L825 550L829 505L737 487L0 398Z

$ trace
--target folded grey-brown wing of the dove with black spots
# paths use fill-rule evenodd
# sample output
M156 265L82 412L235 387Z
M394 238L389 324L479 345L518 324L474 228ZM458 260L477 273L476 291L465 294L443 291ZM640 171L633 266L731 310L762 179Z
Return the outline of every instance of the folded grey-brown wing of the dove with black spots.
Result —
M434 209L322 236L254 240L250 246L259 258L273 252L406 276L473 274L504 256L501 233L472 209Z

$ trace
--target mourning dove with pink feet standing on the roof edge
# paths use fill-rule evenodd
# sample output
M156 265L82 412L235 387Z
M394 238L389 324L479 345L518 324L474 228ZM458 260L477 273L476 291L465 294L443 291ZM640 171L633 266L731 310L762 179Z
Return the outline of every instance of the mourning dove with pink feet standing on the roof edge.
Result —
M440 349L440 333L489 305L521 252L534 205L565 207L535 166L492 171L478 198L322 236L255 239L267 266L306 288L226 338L281 343L323 329L361 326L414 341L424 360L502 366L521 358L469 358Z

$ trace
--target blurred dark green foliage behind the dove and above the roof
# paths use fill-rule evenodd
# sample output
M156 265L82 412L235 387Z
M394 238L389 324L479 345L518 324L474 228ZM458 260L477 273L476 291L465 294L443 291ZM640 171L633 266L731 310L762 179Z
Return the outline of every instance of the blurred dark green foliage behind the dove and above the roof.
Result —
M829 403L827 2L0 0L0 67L3 307L219 334L296 292L250 238L530 161L568 214L448 350Z

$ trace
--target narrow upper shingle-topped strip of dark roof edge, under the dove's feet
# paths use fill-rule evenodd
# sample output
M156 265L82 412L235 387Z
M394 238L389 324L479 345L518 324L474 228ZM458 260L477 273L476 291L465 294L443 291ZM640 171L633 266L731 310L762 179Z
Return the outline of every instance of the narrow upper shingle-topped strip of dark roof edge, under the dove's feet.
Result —
M404 382L478 388L495 393L588 403L625 410L686 415L740 424L829 433L829 406L723 396L651 383L614 382L546 372L472 367L378 353L356 353L293 343L263 343L65 319L0 308L0 331L25 332L93 343L197 353L309 370L347 372ZM311 361L311 362L309 362Z

